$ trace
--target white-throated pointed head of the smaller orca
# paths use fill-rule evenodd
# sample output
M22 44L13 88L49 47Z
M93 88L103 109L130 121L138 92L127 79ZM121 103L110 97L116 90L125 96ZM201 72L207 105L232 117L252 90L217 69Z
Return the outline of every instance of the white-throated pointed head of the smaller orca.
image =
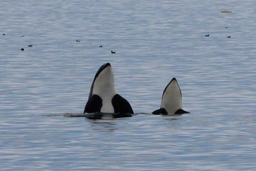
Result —
M176 78L172 78L164 89L161 108L164 108L169 115L175 114L177 110L182 108L181 101L179 84Z

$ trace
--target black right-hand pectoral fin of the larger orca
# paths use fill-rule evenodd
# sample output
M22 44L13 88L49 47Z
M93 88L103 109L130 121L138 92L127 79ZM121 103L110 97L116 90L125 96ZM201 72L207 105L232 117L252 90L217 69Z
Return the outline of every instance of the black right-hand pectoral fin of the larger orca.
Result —
M115 114L133 114L130 103L119 94L115 94L111 102L115 110Z

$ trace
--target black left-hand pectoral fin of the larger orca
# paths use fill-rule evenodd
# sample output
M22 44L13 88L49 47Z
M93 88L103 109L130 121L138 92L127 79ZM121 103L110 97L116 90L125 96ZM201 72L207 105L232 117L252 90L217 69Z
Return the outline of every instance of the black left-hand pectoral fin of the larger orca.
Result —
M93 94L93 96L87 101L84 107L84 113L100 112L102 107L102 99L100 96Z

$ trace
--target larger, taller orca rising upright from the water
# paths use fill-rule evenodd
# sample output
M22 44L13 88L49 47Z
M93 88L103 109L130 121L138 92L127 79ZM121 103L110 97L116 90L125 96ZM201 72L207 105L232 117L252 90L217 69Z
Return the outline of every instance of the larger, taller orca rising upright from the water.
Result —
M102 113L111 113L113 117L128 117L127 114L134 114L130 103L116 93L110 63L103 64L97 71L84 107L85 113L98 113L100 116Z

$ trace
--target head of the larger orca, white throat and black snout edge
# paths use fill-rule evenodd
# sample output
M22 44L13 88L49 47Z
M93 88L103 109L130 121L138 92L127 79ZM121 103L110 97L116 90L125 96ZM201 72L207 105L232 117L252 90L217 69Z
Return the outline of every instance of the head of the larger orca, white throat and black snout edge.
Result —
M88 99L90 99L93 94L99 96L114 96L116 94L114 74L110 63L102 64L97 71L92 82Z

